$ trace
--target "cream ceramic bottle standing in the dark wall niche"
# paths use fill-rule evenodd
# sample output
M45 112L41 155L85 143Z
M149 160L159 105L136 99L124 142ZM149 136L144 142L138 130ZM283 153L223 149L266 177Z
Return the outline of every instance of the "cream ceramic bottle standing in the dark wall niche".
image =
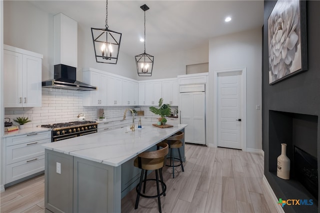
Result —
M284 180L289 180L290 159L286 156L286 144L281 144L281 155L279 155L276 160L276 176Z

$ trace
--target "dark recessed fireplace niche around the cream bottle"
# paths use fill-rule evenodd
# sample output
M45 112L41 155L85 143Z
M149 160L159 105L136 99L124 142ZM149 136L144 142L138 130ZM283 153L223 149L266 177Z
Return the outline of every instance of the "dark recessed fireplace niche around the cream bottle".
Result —
M317 129L318 116L269 111L269 150L272 152L268 155L268 171L287 192L287 199L312 199L317 203ZM276 177L276 158L281 154L281 143L287 144L290 180ZM292 188L297 191L295 195Z

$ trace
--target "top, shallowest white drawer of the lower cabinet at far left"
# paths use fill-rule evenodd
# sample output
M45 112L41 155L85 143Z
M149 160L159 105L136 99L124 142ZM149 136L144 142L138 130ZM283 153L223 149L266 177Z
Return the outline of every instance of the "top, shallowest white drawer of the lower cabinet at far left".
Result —
M4 140L5 140L5 146L12 146L16 144L23 144L26 142L39 141L43 139L51 140L51 131L6 137Z

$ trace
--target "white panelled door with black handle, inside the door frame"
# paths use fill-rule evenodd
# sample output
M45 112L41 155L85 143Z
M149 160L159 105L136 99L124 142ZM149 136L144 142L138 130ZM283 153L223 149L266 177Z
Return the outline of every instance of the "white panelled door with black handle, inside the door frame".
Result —
M217 145L241 149L241 73L217 75Z

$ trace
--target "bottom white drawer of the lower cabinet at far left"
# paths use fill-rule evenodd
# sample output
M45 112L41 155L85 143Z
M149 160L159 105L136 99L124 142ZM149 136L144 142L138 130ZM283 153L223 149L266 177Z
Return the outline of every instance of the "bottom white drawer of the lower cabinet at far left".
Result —
M5 184L44 170L44 155L5 166Z

